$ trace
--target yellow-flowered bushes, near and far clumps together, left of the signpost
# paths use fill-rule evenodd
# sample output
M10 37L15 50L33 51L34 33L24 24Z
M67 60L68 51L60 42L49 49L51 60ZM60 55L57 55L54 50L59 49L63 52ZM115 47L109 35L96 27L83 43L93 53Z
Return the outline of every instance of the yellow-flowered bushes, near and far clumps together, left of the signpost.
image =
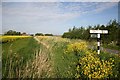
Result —
M88 78L107 78L109 75L112 75L114 60L110 59L101 60L96 51L89 50L87 48L87 42L75 42L67 45L65 53L80 53L81 51L84 52L84 56L79 57L79 61L76 70L77 73L75 74L76 78L81 78L81 74L84 77Z

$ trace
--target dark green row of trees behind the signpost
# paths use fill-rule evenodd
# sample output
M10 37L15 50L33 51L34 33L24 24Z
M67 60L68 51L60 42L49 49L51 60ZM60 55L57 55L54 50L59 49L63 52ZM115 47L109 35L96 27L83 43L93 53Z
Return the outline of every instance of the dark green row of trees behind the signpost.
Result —
M62 37L70 39L83 39L83 40L94 40L91 38L90 30L108 30L108 34L101 35L102 43L112 43L120 45L120 24L116 20L110 20L107 25L95 25L85 27L73 27L65 32Z

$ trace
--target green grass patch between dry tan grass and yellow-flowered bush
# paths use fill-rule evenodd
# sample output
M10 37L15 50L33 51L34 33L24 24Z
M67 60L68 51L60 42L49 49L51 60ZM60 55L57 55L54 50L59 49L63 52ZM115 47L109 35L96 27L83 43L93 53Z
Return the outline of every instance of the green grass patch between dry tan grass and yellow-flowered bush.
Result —
M63 42L57 43L53 50L56 78L74 78L76 56L64 53L67 44Z

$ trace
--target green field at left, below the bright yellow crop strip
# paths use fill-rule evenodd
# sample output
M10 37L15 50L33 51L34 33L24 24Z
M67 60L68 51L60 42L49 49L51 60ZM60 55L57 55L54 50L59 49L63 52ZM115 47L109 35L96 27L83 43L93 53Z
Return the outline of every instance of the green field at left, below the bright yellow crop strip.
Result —
M38 48L39 45L33 38L24 38L2 44L3 78L18 77L19 74L16 70L23 69L26 62L34 58Z

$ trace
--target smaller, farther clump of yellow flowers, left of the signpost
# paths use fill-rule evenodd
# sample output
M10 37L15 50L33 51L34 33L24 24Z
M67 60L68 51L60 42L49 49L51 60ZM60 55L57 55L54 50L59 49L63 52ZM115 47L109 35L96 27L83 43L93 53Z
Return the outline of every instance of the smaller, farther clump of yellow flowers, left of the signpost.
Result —
M66 53L71 52L79 52L79 51L86 51L87 50L87 42L75 42L67 45L67 49L65 50Z

